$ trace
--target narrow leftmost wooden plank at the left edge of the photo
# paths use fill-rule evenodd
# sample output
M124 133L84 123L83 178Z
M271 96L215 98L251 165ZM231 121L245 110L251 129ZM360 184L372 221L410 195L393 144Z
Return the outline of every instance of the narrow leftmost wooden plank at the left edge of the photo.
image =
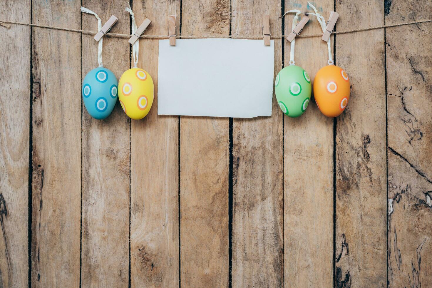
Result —
M30 22L29 1L1 0L0 10L8 20ZM0 287L26 287L30 28L0 27L0 42Z

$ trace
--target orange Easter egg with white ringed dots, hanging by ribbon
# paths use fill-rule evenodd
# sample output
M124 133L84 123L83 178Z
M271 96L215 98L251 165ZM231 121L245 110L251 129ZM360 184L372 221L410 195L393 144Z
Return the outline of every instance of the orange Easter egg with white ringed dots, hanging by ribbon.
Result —
M339 66L324 66L315 76L315 101L321 113L327 117L337 117L345 110L349 92L348 74Z

